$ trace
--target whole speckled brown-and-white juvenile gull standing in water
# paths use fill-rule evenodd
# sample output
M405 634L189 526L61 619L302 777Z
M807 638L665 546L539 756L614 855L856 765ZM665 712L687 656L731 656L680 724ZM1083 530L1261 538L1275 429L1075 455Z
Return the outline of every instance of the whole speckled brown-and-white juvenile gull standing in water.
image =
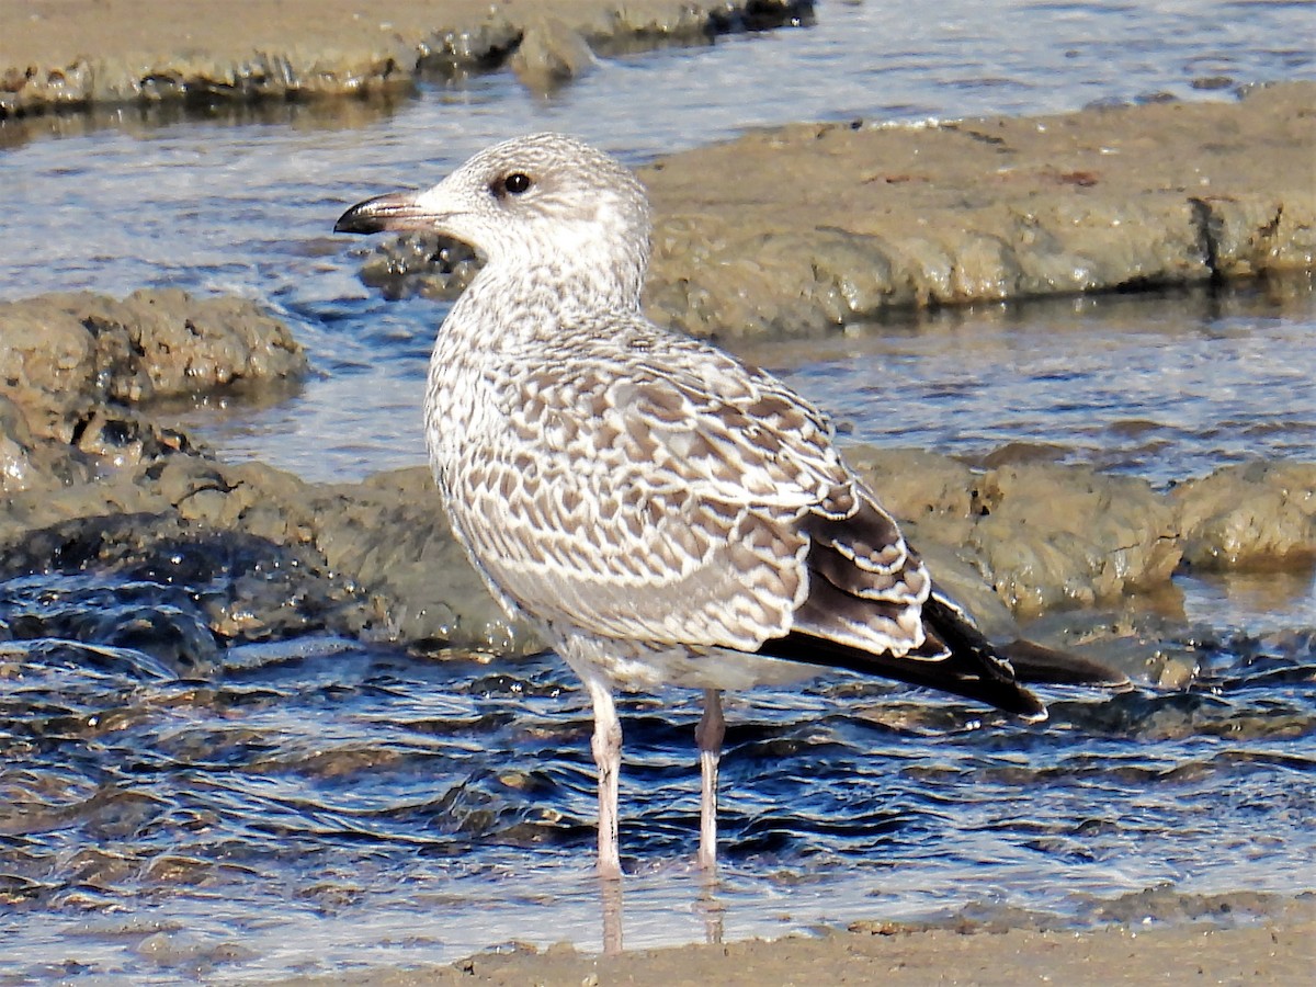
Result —
M434 343L429 461L492 594L590 694L603 875L621 873L615 687L704 690L711 870L720 690L838 667L1044 720L1020 680L1119 680L1026 645L1012 666L937 590L817 408L645 318L649 203L613 158L559 134L507 141L334 229L428 230L486 258Z

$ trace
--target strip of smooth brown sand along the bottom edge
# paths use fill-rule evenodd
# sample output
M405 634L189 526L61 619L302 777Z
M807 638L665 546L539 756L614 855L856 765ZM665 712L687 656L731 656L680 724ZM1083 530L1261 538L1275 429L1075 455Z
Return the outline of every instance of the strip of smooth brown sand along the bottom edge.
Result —
M819 938L747 941L591 957L571 948L478 955L450 967L353 976L371 987L408 984L1098 984L1304 983L1313 959L1316 905L1294 901L1257 925L1133 925L1087 932L949 929L903 932L857 923ZM308 978L297 984L346 983Z

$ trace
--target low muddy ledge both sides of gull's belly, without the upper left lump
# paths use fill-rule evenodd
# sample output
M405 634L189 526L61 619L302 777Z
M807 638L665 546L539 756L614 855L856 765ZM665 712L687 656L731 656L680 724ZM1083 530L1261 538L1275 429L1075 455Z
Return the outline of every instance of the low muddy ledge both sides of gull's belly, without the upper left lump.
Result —
M1045 612L1163 596L1186 546L1234 546L1209 554L1220 567L1257 555L1287 563L1313 544L1309 466L1237 467L1171 497L1054 463L982 471L869 447L850 459L938 584L996 638L1017 637L1019 620ZM1261 503L1275 507L1261 512ZM1258 525L1258 513L1270 522ZM425 647L540 647L471 569L424 467L307 484L262 463L179 450L97 480L20 491L0 515L0 580L42 572L187 587L228 642L322 630ZM1144 662L1126 669L1144 680L1195 674L1192 649L1167 653L1152 638L1119 646Z

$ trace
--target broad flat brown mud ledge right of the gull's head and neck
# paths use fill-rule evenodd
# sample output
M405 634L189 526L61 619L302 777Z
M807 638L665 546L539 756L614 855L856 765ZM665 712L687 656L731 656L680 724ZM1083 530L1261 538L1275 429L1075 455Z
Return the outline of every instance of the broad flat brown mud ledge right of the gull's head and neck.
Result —
M695 334L1316 265L1316 84L926 126L796 124L641 171L646 304Z

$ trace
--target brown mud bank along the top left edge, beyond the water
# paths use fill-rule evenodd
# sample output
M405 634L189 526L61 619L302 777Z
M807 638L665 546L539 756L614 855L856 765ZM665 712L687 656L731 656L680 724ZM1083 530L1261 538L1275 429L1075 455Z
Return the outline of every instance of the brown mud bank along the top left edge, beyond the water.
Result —
M0 120L132 104L368 97L425 75L503 66L546 92L588 71L596 51L707 43L807 20L813 4L559 0L545 9L529 0L382 0L366 13L328 0L309 18L249 1L21 7L0 12Z

